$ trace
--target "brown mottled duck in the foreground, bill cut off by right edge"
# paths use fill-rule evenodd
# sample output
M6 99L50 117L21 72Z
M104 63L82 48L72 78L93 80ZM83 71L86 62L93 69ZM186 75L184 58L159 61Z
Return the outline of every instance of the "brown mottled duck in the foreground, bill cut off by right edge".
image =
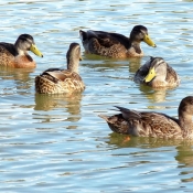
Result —
M121 114L111 117L99 115L115 132L139 137L193 139L193 96L181 100L179 119L154 111L117 108Z

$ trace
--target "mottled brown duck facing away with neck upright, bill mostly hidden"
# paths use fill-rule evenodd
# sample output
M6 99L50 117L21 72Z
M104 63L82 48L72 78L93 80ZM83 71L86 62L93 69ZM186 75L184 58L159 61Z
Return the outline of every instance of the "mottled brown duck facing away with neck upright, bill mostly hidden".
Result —
M35 77L35 90L40 94L66 94L83 92L85 85L78 75L81 46L72 43L66 54L67 69L49 68Z

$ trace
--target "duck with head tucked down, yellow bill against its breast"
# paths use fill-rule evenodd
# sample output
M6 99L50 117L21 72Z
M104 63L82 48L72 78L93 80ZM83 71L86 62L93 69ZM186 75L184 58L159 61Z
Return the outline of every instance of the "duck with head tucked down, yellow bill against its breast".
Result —
M175 87L180 78L175 71L162 57L150 57L135 75L135 82L153 88Z

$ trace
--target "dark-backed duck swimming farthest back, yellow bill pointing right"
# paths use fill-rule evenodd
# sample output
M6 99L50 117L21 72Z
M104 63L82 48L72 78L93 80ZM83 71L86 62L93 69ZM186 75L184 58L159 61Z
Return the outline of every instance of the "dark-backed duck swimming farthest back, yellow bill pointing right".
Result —
M119 33L93 30L87 32L79 30L79 36L87 53L115 58L143 56L141 42L153 47L157 46L148 35L148 29L143 25L136 25L130 32L130 37Z

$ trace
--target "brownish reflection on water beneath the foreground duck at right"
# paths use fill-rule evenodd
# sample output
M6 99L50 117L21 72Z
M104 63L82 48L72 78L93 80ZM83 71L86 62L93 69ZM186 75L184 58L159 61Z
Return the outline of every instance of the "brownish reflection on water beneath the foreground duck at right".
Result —
M165 139L156 139L156 138L139 138L139 137L130 137L126 135L110 133L109 139L106 141L108 144L114 144L116 148L142 148L142 149L154 149L152 151L159 151L160 153L164 153L165 149L160 150L159 148L163 147L174 147L176 150L174 154L174 159L178 161L176 168L186 169L183 172L180 172L179 175L182 178L182 182L192 182L193 181L193 141L184 141L184 140L165 140ZM176 148L175 148L176 147ZM138 149L137 149L138 150ZM128 150L129 152L129 150ZM132 154L140 156L141 152L133 152ZM176 156L175 156L176 154ZM148 157L148 156L147 156ZM158 161L158 160L157 160ZM167 160L165 160L167 161ZM144 162L146 165L146 162Z

